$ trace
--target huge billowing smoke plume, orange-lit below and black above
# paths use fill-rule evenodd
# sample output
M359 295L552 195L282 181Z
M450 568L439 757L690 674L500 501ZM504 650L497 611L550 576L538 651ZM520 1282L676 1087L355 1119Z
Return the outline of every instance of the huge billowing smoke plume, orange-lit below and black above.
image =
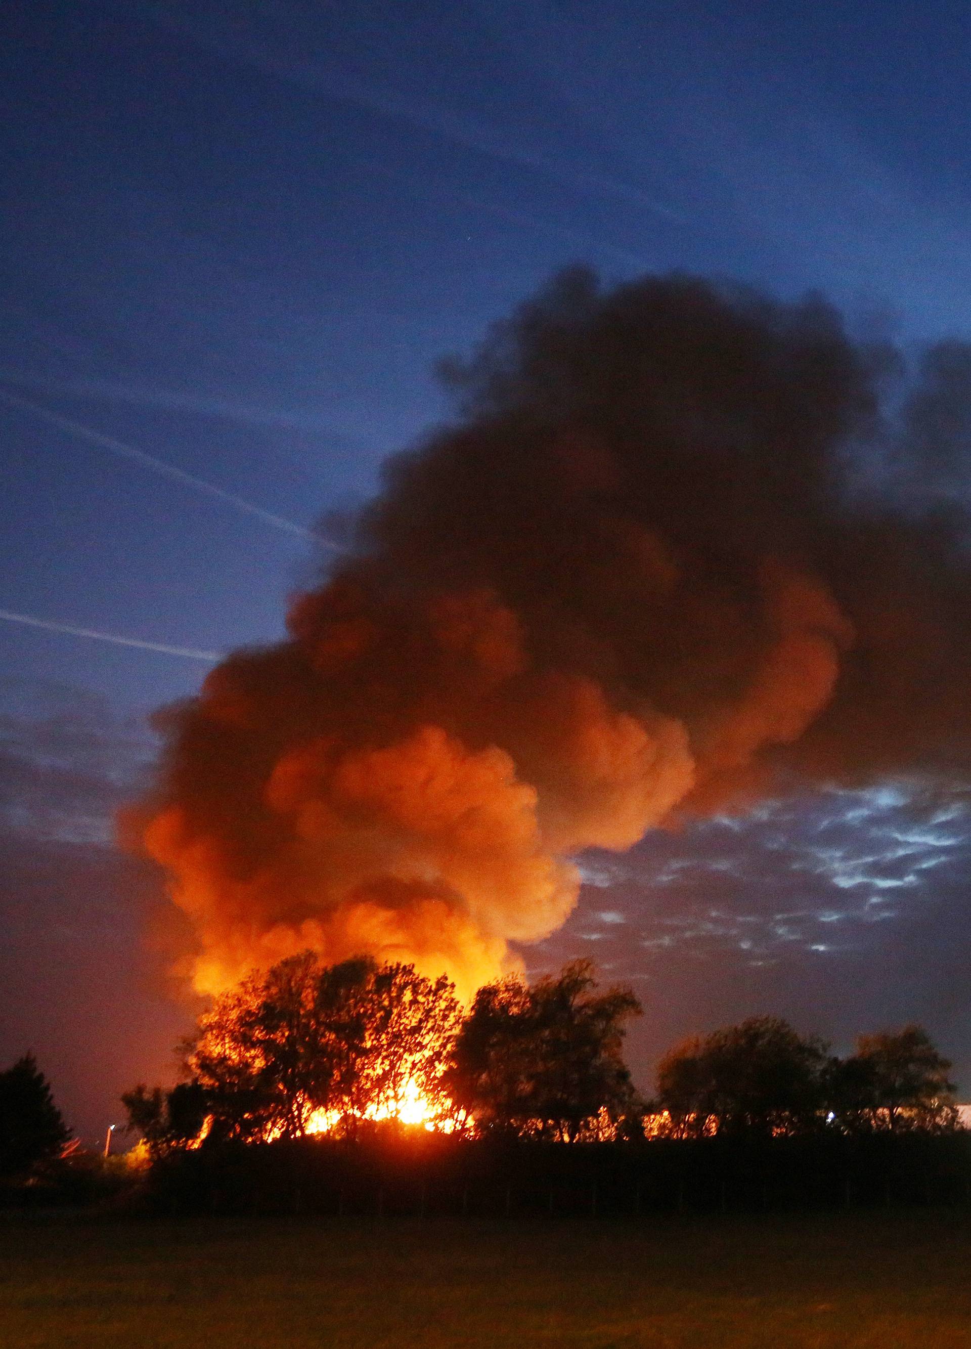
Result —
M963 770L968 571L912 490L955 459L947 355L891 444L893 359L819 299L573 271L496 328L291 638L162 719L143 836L197 987L310 946L468 993L565 920L585 847L781 768Z

